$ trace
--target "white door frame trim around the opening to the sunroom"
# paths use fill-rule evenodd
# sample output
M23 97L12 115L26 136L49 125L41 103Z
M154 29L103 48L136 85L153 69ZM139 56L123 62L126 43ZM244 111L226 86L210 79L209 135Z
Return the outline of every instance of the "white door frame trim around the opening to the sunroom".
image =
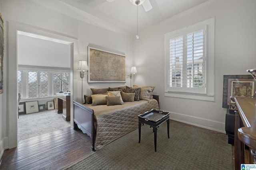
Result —
M17 147L18 143L18 57L17 57L17 30L22 30L24 32L34 33L36 35L43 35L45 37L52 37L54 39L67 41L70 43L70 100L73 101L73 49L77 46L77 39L70 37L68 35L58 34L57 32L40 29L38 27L29 27L28 25L23 25L21 23L8 22L8 41L7 41L7 54L8 54L8 64L5 67L6 72L8 72L7 78L7 114L8 121L6 122L6 128L8 129L8 137L6 138L6 147L12 149ZM75 44L75 45L74 45ZM76 82L75 82L76 86ZM16 106L16 107L15 107ZM70 106L70 126L73 127L73 105Z

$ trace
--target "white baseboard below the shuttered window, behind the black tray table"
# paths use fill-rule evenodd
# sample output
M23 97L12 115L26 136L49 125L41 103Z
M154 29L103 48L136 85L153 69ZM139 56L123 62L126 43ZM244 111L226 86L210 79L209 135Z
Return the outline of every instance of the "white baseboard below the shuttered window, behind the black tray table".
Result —
M184 115L184 114L174 113L174 112L170 113L170 119L179 121L182 123L187 123L189 125L202 127L209 130L218 131L220 133L226 133L225 122L213 121L210 119L204 119L201 117Z

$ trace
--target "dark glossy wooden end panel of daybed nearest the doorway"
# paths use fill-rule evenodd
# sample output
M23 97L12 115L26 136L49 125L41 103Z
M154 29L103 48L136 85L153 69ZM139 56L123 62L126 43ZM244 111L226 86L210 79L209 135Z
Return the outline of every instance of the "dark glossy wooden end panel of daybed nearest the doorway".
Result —
M74 104L74 129L77 127L86 133L92 140L92 150L95 144L94 112L92 109L73 101Z

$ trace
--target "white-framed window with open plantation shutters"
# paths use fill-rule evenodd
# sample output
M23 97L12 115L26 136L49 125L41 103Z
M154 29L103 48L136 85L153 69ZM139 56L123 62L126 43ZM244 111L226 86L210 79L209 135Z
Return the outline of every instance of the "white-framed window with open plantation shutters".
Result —
M165 34L165 96L214 101L214 22Z

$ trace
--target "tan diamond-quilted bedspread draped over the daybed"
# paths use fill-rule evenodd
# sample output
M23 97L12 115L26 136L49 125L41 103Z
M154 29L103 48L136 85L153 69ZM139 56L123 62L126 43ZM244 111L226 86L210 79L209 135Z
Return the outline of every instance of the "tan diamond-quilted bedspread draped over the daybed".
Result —
M112 141L138 128L138 115L158 109L158 102L151 99L124 102L123 105L84 105L94 110L96 120L95 149L99 150Z

